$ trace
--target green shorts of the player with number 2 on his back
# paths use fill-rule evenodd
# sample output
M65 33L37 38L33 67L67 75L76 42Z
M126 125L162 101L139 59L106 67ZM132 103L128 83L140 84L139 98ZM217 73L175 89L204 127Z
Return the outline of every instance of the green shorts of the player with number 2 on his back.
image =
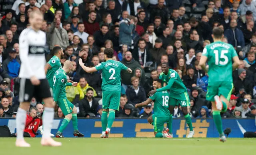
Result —
M120 91L102 91L102 108L119 110Z

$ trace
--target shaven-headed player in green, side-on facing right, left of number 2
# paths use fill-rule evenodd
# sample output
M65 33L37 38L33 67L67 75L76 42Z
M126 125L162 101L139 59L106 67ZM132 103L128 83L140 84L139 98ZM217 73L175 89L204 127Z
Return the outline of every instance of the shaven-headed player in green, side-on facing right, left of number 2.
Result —
M76 107L68 101L66 96L66 86L74 86L78 85L77 82L67 83L67 73L69 73L72 69L72 62L66 60L64 62L63 68L60 68L54 73L53 76L53 98L54 102L60 107L62 113L65 115L58 132L56 133L57 138L63 138L62 132L67 127L68 123L72 119L72 124L74 127L74 136L84 137L82 133L78 131L77 125L77 111Z

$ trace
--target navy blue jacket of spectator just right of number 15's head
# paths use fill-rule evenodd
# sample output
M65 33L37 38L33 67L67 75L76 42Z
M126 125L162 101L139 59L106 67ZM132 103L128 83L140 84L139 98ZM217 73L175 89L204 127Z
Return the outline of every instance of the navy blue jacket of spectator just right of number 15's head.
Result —
M238 28L235 28L234 32L235 32L235 36L234 36L233 30L231 28L228 28L224 32L224 36L228 39L228 44L231 44L234 47L241 46L243 48L244 44L245 44L243 32Z

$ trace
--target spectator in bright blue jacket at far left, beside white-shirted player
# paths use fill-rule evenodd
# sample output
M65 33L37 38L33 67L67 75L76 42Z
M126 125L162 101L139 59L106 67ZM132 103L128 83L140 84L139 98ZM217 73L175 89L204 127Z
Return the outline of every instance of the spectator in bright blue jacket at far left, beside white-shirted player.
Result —
M3 62L3 70L5 70L8 75L12 78L17 78L20 71L20 60L16 58L17 52L15 49L9 52L9 58Z

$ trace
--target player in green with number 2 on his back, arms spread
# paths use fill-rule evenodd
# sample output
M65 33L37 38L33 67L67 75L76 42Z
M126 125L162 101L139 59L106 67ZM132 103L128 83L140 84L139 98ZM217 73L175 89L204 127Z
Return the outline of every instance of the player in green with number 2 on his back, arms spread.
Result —
M84 66L82 59L79 59L79 64L85 72L97 72L102 70L102 103L103 113L101 117L102 123L102 138L108 138L111 126L115 119L115 111L119 110L121 96L121 70L126 70L132 73L130 68L127 68L120 62L112 60L114 51L112 48L104 50L106 62L98 64L96 67L88 68ZM109 113L109 116L108 116Z

